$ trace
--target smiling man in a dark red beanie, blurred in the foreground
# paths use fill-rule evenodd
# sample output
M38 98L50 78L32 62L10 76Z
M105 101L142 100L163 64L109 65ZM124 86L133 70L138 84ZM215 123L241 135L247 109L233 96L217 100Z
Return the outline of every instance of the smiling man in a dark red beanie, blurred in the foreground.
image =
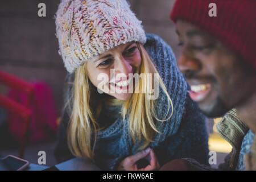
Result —
M212 2L216 17L209 16ZM244 158L255 163L250 151L256 132L255 7L251 0L177 0L171 13L182 48L178 65L192 100L212 118L236 109L218 125L233 145L225 169L245 169ZM192 159L176 160L166 169L176 167L207 169Z

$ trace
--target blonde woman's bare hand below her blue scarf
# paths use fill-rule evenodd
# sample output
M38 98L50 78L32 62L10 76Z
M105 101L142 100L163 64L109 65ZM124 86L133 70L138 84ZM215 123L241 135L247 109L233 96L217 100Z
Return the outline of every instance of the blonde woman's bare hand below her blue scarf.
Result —
M138 169L137 162L141 159L147 159L150 164L144 168ZM156 158L155 152L151 148L146 148L141 152L138 152L135 155L128 156L123 159L122 162L118 166L119 171L153 171L158 170L160 165Z

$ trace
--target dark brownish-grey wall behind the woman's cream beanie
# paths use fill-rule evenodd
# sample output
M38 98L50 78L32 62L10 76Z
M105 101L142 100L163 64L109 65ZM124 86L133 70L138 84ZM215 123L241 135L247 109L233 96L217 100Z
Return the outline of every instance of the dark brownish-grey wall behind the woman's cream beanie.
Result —
M38 16L38 4L46 3L46 17ZM57 53L55 20L59 0L2 0L0 2L0 70L28 81L45 81L53 90L57 109L63 105L66 74ZM176 55L177 37L169 19L174 0L130 0L146 32L162 36ZM0 90L3 90L0 87Z

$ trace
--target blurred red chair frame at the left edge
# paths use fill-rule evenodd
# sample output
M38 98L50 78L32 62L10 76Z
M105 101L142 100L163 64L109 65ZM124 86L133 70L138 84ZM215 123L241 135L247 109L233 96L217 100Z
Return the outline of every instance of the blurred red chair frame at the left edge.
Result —
M0 106L6 109L9 113L15 114L16 117L19 117L20 122L24 122L24 125L22 125L23 127L19 129L22 132L21 138L19 139L19 157L23 158L28 139L28 129L31 121L32 113L29 106L33 99L34 87L32 84L5 72L0 72L0 84L11 89L19 90L20 92L26 94L28 98L26 103L21 105L18 102L11 100L7 96L0 94Z

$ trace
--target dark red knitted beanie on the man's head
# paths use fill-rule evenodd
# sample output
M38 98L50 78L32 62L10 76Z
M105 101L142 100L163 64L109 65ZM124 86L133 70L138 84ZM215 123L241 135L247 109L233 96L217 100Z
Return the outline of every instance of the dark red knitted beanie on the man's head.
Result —
M216 3L217 17L208 15L210 3ZM255 0L176 0L171 19L208 32L256 69Z

